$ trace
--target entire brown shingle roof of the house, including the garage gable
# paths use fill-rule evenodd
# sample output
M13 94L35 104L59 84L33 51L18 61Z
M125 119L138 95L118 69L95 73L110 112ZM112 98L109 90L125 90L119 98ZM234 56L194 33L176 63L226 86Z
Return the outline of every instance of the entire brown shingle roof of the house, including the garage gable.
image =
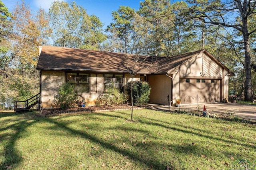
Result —
M150 57L140 55L136 72L140 74L166 73L172 68L188 61L200 53L207 53L226 68L207 50L199 50L168 58ZM134 58L138 55L113 53L107 51L92 51L84 49L72 49L65 47L43 46L38 65L38 70L74 70L88 72L129 72L133 70ZM231 72L228 68L226 68ZM231 72L232 73L232 72ZM232 73L233 74L233 73Z

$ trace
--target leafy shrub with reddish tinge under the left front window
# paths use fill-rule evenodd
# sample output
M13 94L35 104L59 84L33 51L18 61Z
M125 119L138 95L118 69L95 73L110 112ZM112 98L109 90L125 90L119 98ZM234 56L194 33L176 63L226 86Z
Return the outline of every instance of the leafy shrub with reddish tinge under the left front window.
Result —
M62 84L62 86L59 86L58 93L54 95L53 104L62 110L70 108L76 104L77 96L75 95L74 85L70 83Z

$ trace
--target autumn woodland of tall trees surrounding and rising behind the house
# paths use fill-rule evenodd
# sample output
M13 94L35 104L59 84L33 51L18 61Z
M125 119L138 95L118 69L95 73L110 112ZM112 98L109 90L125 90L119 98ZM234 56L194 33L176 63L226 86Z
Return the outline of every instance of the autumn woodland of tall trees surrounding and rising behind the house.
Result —
M41 45L172 57L207 49L235 76L229 93L251 101L256 83L256 1L144 0L120 6L104 25L76 2L54 1L48 12L24 1L12 12L0 1L0 109L39 93Z

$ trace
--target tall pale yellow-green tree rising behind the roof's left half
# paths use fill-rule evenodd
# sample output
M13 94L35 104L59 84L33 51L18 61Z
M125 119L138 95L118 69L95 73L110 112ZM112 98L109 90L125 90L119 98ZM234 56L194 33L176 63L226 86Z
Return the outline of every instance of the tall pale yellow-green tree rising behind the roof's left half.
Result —
M98 49L106 39L103 24L96 16L88 16L82 6L54 1L49 10L52 39L60 47Z

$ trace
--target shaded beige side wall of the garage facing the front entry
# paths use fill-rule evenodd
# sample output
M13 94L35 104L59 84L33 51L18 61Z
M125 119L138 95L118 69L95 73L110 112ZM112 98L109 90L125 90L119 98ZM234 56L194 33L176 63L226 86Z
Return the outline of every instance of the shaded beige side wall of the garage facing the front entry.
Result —
M151 87L150 102L168 105L167 96L172 96L172 79L166 75L148 76L148 82Z

